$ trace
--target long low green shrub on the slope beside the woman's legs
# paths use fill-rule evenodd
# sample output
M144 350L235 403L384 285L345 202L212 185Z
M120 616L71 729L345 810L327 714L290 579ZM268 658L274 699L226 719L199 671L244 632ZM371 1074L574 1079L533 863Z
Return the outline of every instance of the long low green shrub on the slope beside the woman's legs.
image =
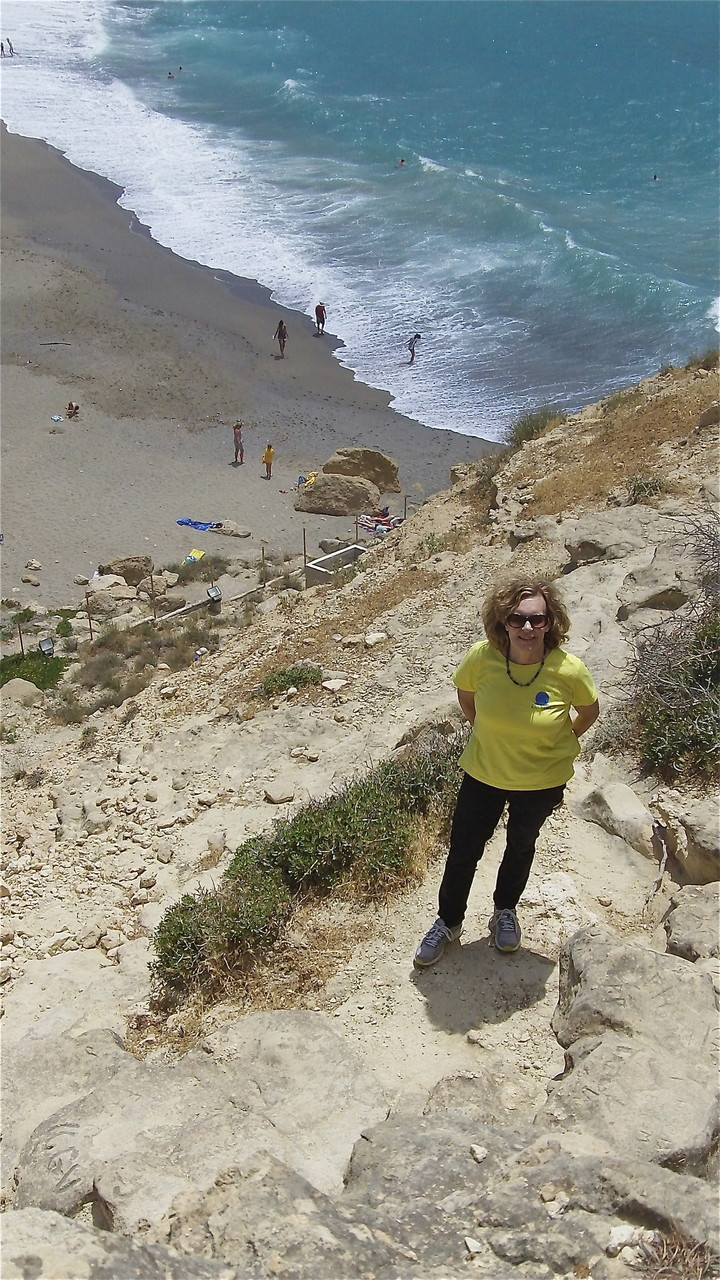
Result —
M279 934L293 902L345 883L370 901L415 874L423 817L445 833L460 781L459 740L369 769L234 854L213 893L186 895L155 933L155 983L206 993L245 970Z

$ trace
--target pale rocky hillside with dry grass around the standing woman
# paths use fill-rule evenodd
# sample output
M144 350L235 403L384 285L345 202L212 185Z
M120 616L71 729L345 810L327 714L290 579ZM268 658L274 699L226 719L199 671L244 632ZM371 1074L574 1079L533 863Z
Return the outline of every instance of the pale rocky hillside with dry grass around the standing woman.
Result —
M710 1258L716 809L641 777L607 713L638 631L703 588L688 516L717 504L716 424L716 372L665 371L459 468L345 585L251 618L223 603L218 649L129 705L59 726L50 695L4 698L4 1274L542 1280ZM411 970L430 865L382 910L305 908L222 1004L154 1009L170 902L275 814L457 727L451 672L512 568L562 575L603 705L542 833L523 950L487 946L491 850L437 970ZM323 685L255 695L304 659Z

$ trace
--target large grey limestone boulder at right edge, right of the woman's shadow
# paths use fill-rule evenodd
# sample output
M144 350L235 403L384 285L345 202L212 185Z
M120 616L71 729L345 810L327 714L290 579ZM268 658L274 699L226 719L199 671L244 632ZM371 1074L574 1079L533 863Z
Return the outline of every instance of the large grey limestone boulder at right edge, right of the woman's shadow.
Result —
M707 974L601 925L580 929L560 956L552 1018L565 1075L538 1123L702 1175L717 1129L715 1027Z

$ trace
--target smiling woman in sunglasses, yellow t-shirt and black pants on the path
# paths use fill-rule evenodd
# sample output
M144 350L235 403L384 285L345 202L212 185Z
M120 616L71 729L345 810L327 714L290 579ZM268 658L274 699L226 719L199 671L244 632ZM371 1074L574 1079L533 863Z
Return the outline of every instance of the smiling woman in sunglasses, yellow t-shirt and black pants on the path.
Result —
M515 908L539 829L562 803L578 739L600 709L589 671L560 648L570 621L555 586L516 579L496 588L483 605L483 626L487 640L473 645L452 677L473 732L460 756L465 777L438 919L415 952L420 968L439 960L447 943L460 937L475 868L506 804L506 846L488 927L498 951L518 950Z

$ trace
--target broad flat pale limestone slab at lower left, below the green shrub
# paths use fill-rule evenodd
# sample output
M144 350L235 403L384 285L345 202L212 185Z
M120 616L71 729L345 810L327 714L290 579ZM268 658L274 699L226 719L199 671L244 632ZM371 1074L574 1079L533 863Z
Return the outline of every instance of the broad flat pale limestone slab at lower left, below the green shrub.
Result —
M337 1193L355 1138L386 1112L322 1015L249 1014L172 1066L128 1055L108 1087L44 1120L18 1160L15 1207L72 1215L95 1189L115 1230L132 1233L258 1151Z

